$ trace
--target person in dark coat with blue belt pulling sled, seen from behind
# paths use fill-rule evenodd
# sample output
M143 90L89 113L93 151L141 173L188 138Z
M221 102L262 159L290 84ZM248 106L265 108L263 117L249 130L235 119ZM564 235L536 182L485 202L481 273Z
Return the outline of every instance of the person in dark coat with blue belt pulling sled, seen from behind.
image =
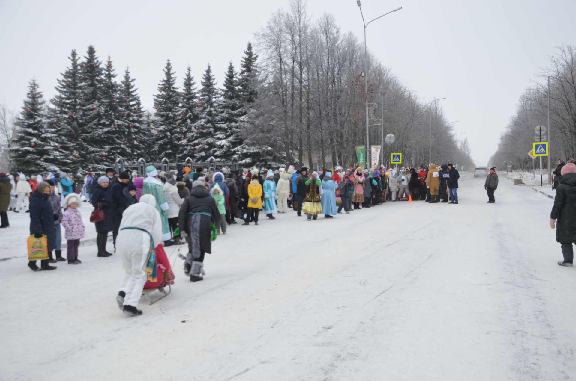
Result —
M204 279L204 254L212 252L212 222L220 221L220 212L204 184L198 180L192 183L190 196L180 205L178 226L180 234L188 242L188 256L184 264L185 275L190 281Z

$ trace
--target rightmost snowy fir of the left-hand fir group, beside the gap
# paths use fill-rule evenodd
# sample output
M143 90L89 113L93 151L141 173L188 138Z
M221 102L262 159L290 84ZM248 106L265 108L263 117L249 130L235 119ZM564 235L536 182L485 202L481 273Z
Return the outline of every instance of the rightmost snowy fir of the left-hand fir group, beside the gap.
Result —
M126 155L124 160L130 162L135 162L142 157L145 152L144 140L150 136L146 131L147 122L134 81L135 79L130 77L130 68L127 67L119 86L119 97L116 100L120 116L116 125L123 135L122 146Z

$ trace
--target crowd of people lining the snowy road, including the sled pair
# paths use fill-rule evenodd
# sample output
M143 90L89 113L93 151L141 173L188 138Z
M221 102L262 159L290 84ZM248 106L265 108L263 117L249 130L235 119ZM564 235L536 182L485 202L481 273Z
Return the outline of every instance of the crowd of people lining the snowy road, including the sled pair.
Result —
M418 169L336 166L316 171L294 166L193 171L179 165L175 172L158 172L149 166L139 175L107 168L102 174L88 173L78 185L65 172L57 177L50 173L31 178L18 173L16 181L0 173L0 197L9 193L7 209L28 212L30 234L47 239L47 259L41 260L40 266L29 261L29 268L53 270L56 267L50 264L58 261L82 263L78 249L85 226L79 209L83 203L91 204L97 256L109 257L115 252L126 270L117 296L119 307L128 315L139 315L142 312L136 307L143 288L173 282L165 247L187 243L188 253L182 256L184 273L190 281L200 281L206 274L204 257L211 253L211 242L233 224L257 226L261 211L271 220L289 211L316 220L319 215L330 219L386 201L458 204L460 177L450 163L430 163ZM492 183L488 183L490 189ZM5 214L2 227L9 226ZM62 227L66 258L62 256ZM107 247L109 233L113 249Z

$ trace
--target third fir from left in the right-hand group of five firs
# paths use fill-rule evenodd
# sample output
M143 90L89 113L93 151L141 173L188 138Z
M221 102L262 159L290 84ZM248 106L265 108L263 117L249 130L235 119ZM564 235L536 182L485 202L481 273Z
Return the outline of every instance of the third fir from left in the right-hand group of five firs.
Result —
M219 94L210 65L208 65L206 72L204 72L200 83L202 84L198 100L200 116L194 124L196 141L192 146L194 147L194 152L191 153L194 153L196 160L206 161L214 155L214 148L216 147L214 132L217 130L219 120L218 108L216 107L216 104L219 102Z

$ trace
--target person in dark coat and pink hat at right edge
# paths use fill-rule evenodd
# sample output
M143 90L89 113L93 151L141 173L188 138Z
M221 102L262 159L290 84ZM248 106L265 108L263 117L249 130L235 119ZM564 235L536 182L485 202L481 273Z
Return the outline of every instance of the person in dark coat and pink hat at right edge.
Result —
M556 227L556 242L562 247L560 266L572 267L573 243L576 243L576 165L568 163L560 170L560 185L556 188L554 206L550 213L550 227ZM555 226L558 221L557 226Z

